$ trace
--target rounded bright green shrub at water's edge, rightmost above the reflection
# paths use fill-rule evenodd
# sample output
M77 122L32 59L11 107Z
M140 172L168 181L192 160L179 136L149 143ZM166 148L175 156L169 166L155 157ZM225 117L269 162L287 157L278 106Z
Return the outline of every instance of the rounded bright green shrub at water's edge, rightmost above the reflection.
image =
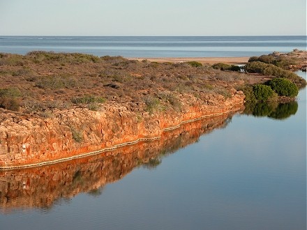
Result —
M265 84L270 86L278 95L295 97L299 93L297 86L285 78L274 78L265 82Z

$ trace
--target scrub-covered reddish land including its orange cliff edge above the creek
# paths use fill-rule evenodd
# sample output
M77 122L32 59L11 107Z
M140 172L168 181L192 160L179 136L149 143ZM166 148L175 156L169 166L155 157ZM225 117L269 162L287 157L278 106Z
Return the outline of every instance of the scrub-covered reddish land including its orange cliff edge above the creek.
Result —
M267 79L178 60L0 54L0 167L159 139L188 121L244 109L241 87Z

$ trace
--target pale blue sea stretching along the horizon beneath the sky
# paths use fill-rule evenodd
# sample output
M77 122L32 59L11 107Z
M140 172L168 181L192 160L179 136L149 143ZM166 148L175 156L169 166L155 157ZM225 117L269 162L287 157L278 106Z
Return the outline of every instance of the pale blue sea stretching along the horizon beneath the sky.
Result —
M0 52L81 52L96 56L260 56L306 50L306 36L55 37L0 36Z

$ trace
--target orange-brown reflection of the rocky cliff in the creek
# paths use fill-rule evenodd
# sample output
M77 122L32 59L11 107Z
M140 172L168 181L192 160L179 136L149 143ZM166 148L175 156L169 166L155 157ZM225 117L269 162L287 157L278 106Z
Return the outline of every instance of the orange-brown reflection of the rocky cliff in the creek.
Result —
M52 208L80 192L100 195L103 186L123 178L135 167L155 168L161 158L197 141L214 128L223 128L231 116L221 115L186 123L163 133L156 141L124 146L89 158L36 167L0 171L0 210Z

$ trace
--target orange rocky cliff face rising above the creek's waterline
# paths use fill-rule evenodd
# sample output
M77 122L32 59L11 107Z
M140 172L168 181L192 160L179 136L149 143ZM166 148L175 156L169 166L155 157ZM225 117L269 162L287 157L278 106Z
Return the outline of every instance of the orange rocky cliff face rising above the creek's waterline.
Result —
M0 168L45 164L83 153L163 136L168 129L204 116L227 114L243 107L244 94L208 97L206 102L181 101L181 112L134 112L128 104L89 109L54 110L52 118L0 115Z

